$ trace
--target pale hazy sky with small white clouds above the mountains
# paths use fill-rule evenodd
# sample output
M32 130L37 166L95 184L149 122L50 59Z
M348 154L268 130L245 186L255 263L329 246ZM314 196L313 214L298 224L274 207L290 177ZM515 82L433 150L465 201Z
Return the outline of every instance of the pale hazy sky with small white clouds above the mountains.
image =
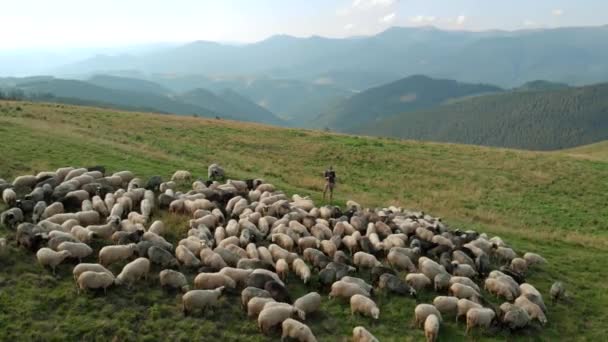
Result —
M606 0L18 0L0 6L0 51L210 40L608 24Z

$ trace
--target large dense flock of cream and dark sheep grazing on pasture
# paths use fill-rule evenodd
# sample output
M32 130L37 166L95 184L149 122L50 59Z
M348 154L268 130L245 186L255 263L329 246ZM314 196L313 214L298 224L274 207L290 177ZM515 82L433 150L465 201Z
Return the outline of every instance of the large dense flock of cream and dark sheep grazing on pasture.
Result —
M224 176L216 164L208 171L209 178ZM304 284L314 282L319 292L329 291L330 300L348 300L353 314L373 319L381 315L373 300L377 291L413 297L436 291L432 303L414 311L427 341L436 340L447 315L465 318L467 333L493 324L515 330L547 323L542 295L525 282L545 259L520 257L500 237L450 229L439 218L392 206L364 209L349 201L344 211L316 207L259 179L197 180L191 190L178 190L190 182L188 171L167 182L159 176L144 181L130 171L106 175L101 166L60 168L12 183L0 179L8 206L1 224L15 230L16 244L35 252L53 273L64 260L78 259L73 274L79 292L131 287L154 264L162 269L162 287L184 292L184 314L205 311L238 290L262 333L279 328L283 337L299 341L316 341L303 322L320 309L322 297L310 292L293 301L285 286L290 272ZM163 237L172 227L151 220L162 210L191 218L176 246ZM94 240L105 243L98 263L82 263L95 253ZM7 248L6 238L0 248ZM126 263L118 275L107 268L114 263ZM193 284L180 269L197 273ZM370 272L369 282L355 276L358 270ZM504 304L485 300L480 285ZM555 283L550 294L562 297L562 284ZM361 326L354 327L353 340L377 341Z

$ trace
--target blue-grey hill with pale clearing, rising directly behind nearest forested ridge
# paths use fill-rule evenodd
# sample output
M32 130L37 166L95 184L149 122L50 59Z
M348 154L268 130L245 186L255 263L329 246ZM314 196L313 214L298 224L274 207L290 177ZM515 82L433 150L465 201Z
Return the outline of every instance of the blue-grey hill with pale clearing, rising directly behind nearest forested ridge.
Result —
M411 76L344 100L319 116L314 126L347 132L395 114L438 106L450 99L499 91L502 89L491 85Z

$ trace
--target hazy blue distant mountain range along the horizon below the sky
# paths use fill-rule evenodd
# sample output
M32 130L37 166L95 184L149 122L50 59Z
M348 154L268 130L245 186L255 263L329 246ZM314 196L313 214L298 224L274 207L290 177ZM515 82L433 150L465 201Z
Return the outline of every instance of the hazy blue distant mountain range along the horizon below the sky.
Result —
M608 26L520 31L393 27L368 37L274 36L258 43L197 41L145 54L96 56L53 74L208 75L292 79L364 90L408 75L512 88L533 80L608 80ZM200 85L199 85L200 86Z

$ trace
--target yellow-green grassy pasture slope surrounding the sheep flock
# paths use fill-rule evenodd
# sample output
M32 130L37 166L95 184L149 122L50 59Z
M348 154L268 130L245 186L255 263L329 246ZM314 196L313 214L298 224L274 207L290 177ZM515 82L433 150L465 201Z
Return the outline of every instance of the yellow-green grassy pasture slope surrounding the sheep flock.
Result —
M572 301L549 306L540 331L475 340L603 340L608 322L608 162L564 153L533 153L438 143L362 138L192 117L124 113L57 104L0 102L0 177L64 165L103 164L141 176L195 175L220 162L229 177L263 177L289 193L319 199L321 172L333 164L339 202L402 205L444 217L451 225L499 234L519 252L544 255L549 265L529 281L548 298L557 279ZM2 208L0 208L2 209ZM163 217L170 240L185 234L185 218ZM0 228L0 236L9 235ZM290 282L299 295L306 291ZM420 301L433 295L423 293ZM382 341L422 340L412 326L416 302L380 296L381 319L351 317L348 304L323 300L310 324L320 341L347 340L365 325ZM30 253L11 247L0 256L0 340L265 341L238 300L205 318L184 318L179 295L157 279L108 295L76 295L71 266L57 277ZM548 300L547 300L548 302ZM278 339L278 336L274 336ZM470 340L463 323L448 320L440 340Z

